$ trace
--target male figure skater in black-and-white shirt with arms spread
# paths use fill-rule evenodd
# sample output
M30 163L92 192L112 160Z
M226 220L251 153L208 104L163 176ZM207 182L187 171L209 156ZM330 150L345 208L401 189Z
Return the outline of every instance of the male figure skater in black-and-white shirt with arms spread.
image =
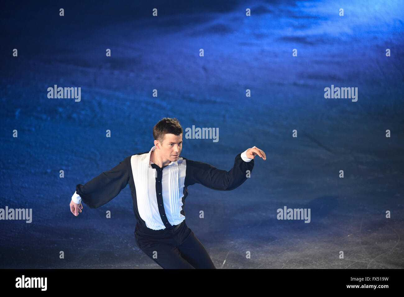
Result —
M162 268L215 269L206 249L185 223L187 187L200 183L210 189L233 190L247 179L258 147L236 156L230 171L180 157L183 130L175 118L163 118L153 128L149 152L126 157L117 166L86 184L76 185L70 211L78 216L83 206L97 208L116 197L129 183L136 218L139 248Z

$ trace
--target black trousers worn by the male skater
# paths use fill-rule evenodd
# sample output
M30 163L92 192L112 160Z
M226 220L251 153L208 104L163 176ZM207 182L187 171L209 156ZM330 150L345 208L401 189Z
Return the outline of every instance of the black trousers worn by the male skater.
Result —
M139 248L162 268L216 269L185 220L169 230L152 230L136 224L135 239Z

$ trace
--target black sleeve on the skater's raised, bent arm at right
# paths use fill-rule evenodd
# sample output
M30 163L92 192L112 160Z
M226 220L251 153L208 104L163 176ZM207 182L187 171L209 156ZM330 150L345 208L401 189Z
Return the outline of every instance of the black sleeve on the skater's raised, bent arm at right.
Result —
M248 178L247 170L251 173L254 167L254 159L250 162L245 162L241 158L241 153L234 159L234 166L230 171L217 169L207 163L185 160L187 164L185 185L200 183L210 189L221 191L236 189Z

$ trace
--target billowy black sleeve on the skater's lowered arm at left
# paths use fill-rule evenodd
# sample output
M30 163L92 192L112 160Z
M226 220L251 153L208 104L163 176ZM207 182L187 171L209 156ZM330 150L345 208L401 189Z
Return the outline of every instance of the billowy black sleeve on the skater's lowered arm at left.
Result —
M115 198L129 183L130 157L119 162L113 169L105 171L84 185L76 185L82 202L95 209Z

